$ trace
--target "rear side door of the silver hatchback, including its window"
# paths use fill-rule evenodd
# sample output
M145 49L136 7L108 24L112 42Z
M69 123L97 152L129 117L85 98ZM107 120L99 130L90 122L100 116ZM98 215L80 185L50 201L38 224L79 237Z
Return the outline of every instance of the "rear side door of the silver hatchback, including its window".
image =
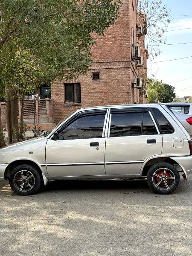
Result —
M162 152L162 135L148 108L111 109L106 175L139 175L143 162Z

